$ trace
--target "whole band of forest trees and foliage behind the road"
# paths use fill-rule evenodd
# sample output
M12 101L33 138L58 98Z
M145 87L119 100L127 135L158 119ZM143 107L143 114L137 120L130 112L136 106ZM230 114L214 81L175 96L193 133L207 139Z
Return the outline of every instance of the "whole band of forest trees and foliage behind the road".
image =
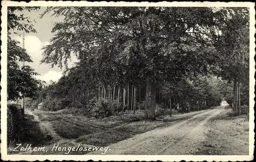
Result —
M12 7L9 33L36 32ZM106 117L142 110L199 111L226 100L236 115L249 105L249 11L247 8L48 7L64 16L55 23L42 64L65 69L45 84L29 66L26 50L8 37L8 99L29 97L25 107L79 109ZM28 21L24 21L28 20ZM68 68L74 55L78 62ZM22 80L20 82L20 80ZM14 88L15 87L15 88Z

